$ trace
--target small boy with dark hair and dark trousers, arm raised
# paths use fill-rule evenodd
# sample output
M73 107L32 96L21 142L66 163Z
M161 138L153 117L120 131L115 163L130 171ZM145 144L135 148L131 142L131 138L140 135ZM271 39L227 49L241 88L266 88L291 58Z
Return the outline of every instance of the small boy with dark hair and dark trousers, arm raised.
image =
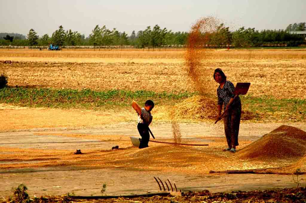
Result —
M151 110L154 107L154 102L147 100L144 104L144 108L140 109L140 106L136 101L132 101L133 109L138 113L138 124L137 129L141 136L139 149L148 147L150 134L149 134L149 125L152 122L153 116L151 115Z

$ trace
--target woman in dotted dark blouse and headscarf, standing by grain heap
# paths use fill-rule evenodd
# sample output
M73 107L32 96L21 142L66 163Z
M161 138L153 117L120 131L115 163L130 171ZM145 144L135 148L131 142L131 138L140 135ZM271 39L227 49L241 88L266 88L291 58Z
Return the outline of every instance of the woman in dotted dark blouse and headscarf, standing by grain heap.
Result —
M233 94L235 87L233 83L226 80L226 76L220 68L215 69L214 79L217 83L220 84L217 89L218 118L220 118L221 116L222 105L223 111L226 111L223 116L223 122L228 148L225 150L235 153L236 146L239 145L238 133L241 118L241 100L238 96L233 101L235 96ZM230 101L232 102L232 104L228 106L228 103Z

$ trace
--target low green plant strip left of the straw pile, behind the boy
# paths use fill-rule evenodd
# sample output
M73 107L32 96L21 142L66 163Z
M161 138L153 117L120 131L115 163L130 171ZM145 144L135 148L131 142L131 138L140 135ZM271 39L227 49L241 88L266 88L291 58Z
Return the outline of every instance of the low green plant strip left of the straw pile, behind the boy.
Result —
M28 107L100 109L127 107L132 100L136 100L140 105L143 105L147 99L153 100L156 105L174 104L178 100L188 98L193 94L195 93L5 87L0 89L0 102Z

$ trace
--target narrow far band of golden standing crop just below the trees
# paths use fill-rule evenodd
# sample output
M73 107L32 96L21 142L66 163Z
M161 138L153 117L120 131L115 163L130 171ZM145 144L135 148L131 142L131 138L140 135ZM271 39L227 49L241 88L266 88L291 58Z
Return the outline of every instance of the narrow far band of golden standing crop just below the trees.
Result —
M305 49L255 49L255 50L212 50L211 59L305 59ZM126 58L126 59L184 59L185 49L156 50L92 50L63 49L61 51L31 50L31 49L1 49L0 57L37 57L37 58Z

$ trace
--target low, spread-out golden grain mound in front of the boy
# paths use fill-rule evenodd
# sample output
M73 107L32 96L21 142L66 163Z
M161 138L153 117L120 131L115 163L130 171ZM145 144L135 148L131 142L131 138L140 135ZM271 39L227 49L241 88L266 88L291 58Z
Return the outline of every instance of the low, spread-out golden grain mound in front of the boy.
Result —
M207 154L201 148L186 147L179 145L156 145L144 149L135 150L129 156L118 158L121 163L127 167L137 167L145 170L169 170L183 172L208 173L214 170L216 163L222 163L222 157ZM186 171L185 171L186 172Z

